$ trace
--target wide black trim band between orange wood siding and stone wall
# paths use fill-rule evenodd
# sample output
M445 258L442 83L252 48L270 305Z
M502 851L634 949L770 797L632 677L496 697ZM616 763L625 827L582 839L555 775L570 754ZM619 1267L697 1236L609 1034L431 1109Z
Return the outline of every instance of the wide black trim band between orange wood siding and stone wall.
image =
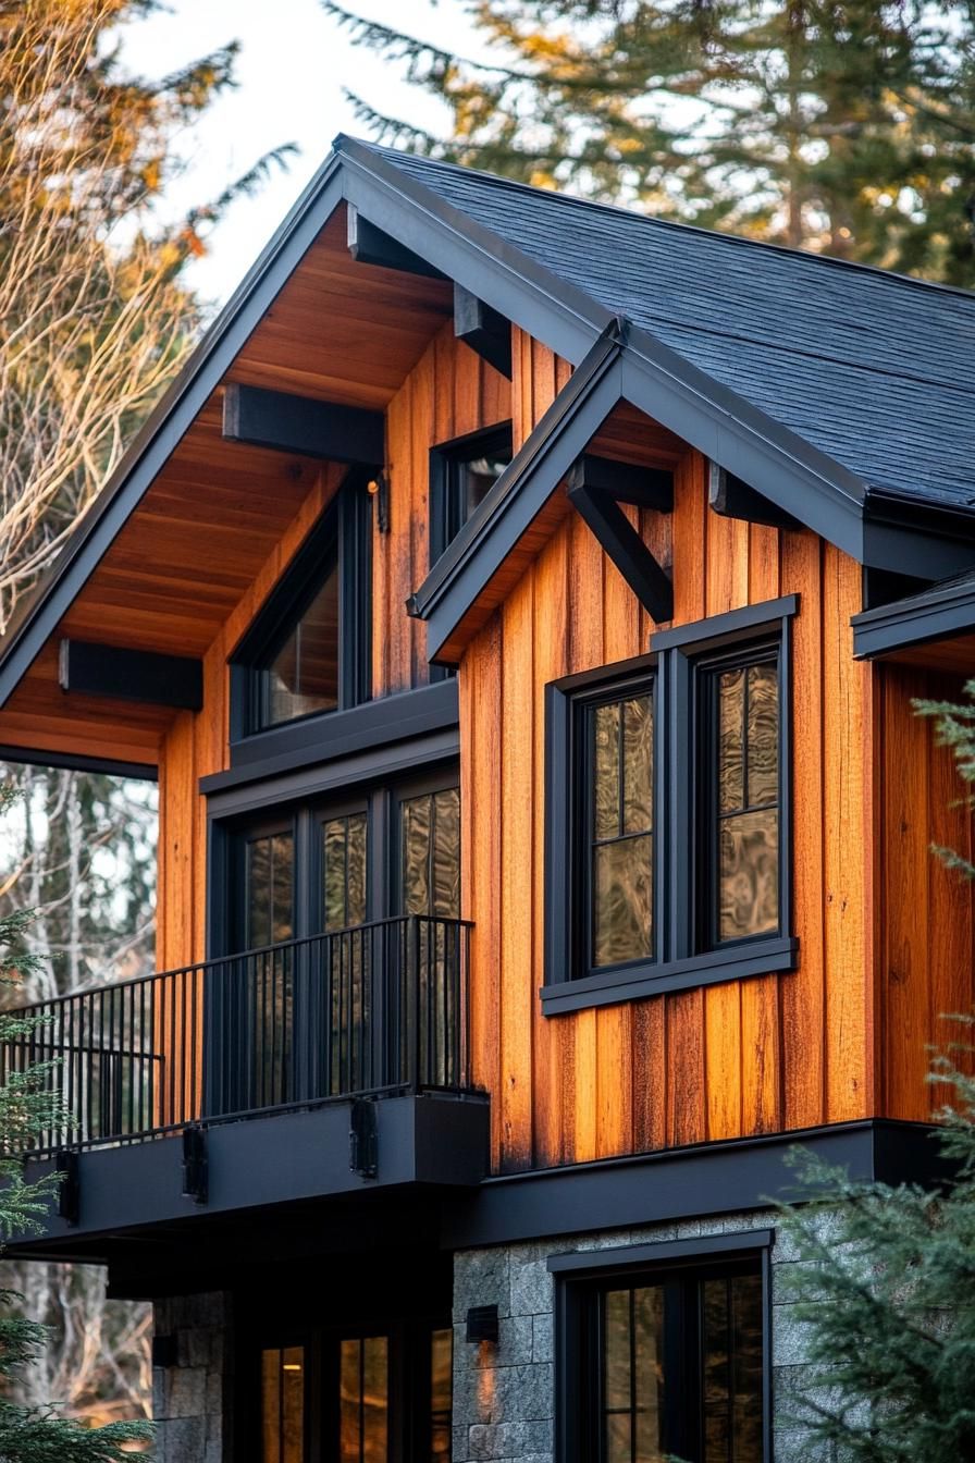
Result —
M934 1185L950 1169L933 1134L927 1124L868 1118L490 1178L444 1210L441 1245L507 1245L770 1208L801 1197L785 1162L795 1146L854 1182Z

